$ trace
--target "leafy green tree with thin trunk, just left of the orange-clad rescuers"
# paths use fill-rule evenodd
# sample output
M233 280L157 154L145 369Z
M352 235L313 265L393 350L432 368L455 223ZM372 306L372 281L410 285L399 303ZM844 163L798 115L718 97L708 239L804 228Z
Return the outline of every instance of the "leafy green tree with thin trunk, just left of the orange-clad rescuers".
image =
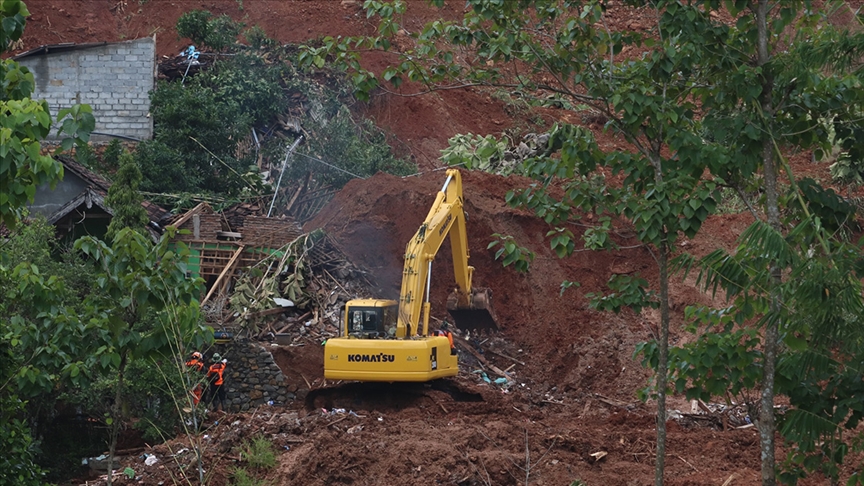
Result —
M186 277L188 252L169 249L172 233L155 245L129 228L121 229L111 246L92 237L75 242L75 248L99 268L101 292L92 294L89 302L90 322L97 330L91 345L98 344L92 356L116 376L109 418L109 470L123 419L122 392L129 364L136 358L182 356L185 343L198 347L212 336L201 323L196 300L200 279Z

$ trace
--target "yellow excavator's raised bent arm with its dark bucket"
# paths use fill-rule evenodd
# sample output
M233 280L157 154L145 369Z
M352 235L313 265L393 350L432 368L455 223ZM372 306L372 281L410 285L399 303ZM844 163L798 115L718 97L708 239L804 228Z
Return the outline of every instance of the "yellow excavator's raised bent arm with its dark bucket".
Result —
M456 326L463 329L497 328L490 307L490 291L472 287L474 267L468 265L468 237L462 206L462 177L458 170L450 169L429 214L405 248L397 338L428 335L432 261L448 235L456 289L447 299L447 308Z

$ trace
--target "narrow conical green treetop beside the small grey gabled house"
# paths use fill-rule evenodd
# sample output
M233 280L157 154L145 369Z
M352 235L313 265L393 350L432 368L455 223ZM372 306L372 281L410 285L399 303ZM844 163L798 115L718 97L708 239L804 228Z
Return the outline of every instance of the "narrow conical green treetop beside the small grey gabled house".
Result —
M147 211L141 206L144 198L138 192L141 182L141 170L135 159L128 153L120 156L120 169L114 176L114 184L108 189L105 204L114 211L105 238L111 240L123 228L131 228L141 234L146 234L145 227L150 221Z

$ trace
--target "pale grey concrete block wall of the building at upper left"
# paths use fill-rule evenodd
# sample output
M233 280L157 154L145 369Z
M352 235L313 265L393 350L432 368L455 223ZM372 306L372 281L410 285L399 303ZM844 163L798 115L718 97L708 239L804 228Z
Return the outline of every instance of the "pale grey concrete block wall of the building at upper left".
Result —
M149 92L156 81L155 38L49 50L18 62L33 73L34 98L45 99L53 116L75 103L86 103L93 108L98 132L141 140L153 136Z

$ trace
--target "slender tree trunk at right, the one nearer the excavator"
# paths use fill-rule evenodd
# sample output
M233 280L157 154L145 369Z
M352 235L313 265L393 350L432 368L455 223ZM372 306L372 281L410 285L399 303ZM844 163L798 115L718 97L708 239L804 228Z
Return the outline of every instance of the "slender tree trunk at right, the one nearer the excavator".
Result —
M657 462L654 467L654 485L663 486L666 466L666 382L669 369L669 247L664 238L660 243L660 362L657 364Z

